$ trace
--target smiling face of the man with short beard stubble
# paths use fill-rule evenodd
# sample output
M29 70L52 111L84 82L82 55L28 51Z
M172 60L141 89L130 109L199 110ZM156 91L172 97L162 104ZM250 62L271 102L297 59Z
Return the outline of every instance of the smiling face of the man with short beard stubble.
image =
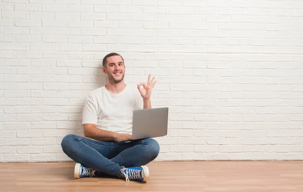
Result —
M107 74L111 83L119 83L124 79L125 66L123 59L119 55L107 58L106 68L103 70Z

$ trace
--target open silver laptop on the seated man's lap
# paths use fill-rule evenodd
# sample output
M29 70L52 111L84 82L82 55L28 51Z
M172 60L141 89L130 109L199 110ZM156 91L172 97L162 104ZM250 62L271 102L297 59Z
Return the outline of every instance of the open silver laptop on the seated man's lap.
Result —
M156 138L167 135L168 107L133 111L132 139Z

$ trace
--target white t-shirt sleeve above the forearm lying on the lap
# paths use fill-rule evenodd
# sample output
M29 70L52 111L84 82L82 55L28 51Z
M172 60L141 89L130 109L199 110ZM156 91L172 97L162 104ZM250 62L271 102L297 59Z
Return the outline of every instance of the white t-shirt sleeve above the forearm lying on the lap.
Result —
M97 121L98 121L97 106L94 98L92 97L91 94L89 94L84 104L82 124L85 123L97 124Z

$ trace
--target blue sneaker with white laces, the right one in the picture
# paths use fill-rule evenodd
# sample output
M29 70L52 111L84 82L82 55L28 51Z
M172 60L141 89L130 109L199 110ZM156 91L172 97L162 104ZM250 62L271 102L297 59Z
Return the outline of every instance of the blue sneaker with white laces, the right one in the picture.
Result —
M125 176L126 182L129 180L147 181L149 179L149 170L145 165L121 169L121 173Z

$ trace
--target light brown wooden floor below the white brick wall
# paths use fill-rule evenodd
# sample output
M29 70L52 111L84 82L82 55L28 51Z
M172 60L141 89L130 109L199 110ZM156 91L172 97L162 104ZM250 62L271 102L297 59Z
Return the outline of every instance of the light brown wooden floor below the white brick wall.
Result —
M303 161L151 162L146 183L75 179L74 165L0 163L0 191L303 191Z

